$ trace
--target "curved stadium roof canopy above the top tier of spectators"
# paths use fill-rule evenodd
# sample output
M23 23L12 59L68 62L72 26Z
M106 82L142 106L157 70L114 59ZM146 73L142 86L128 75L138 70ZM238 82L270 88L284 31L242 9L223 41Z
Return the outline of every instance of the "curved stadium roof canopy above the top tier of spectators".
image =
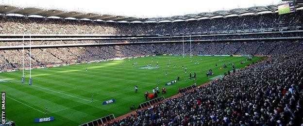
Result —
M296 5L297 8L302 8L302 4ZM63 10L46 10L41 8L20 8L16 6L0 5L0 14L19 14L23 16L42 16L42 17L60 17L60 18L74 18L74 19L89 19L96 21L114 21L114 22L165 22L165 21L186 21L197 20L203 18L216 18L227 16L242 16L249 14L275 13L278 11L277 5L269 6L254 6L250 8L236 8L231 10L221 10L215 12L204 12L198 14L187 14L183 16L171 17L154 17L154 18L139 18L128 16L114 16L102 15L96 13L82 13L77 11L63 11Z

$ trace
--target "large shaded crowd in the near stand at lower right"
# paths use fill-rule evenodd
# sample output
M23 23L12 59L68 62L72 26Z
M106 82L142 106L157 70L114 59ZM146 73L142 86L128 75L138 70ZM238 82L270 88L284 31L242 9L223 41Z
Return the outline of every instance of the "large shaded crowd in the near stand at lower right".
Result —
M302 126L303 45L109 126Z

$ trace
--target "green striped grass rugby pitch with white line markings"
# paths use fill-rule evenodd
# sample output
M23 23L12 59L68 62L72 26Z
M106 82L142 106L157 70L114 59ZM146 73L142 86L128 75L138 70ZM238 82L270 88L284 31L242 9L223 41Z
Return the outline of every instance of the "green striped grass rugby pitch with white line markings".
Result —
M201 85L211 81L206 71L212 68L214 75L223 75L232 70L228 61L243 68L251 61L247 57L214 57L214 56L151 56L125 59L102 63L78 64L32 70L33 85L29 85L29 70L25 71L25 84L21 84L22 71L0 73L0 91L6 92L6 119L15 121L17 126L75 126L114 114L116 117L130 112L133 104L137 107L145 102L144 93L162 86L167 89L166 98L177 94L178 87L187 87L193 83ZM223 59L223 62L219 62ZM262 58L253 57L256 62ZM171 61L169 67L168 61ZM198 62L199 61L199 62ZM244 64L240 64L245 61ZM138 65L133 67L133 63ZM159 62L160 68L153 67ZM122 64L123 63L123 64ZM146 67L152 63L151 68ZM218 68L215 67L218 63ZM228 69L220 70L223 63ZM176 68L173 66L176 65ZM182 65L187 67L185 74ZM88 69L85 71L85 69ZM168 75L165 76L167 71ZM189 72L196 72L197 80L187 79ZM181 81L165 86L165 83ZM160 79L160 84L158 84ZM7 81L7 82L5 82ZM135 94L134 86L138 85ZM92 102L92 94L94 94ZM162 96L162 94L159 94ZM103 101L116 99L115 103L102 105ZM45 106L48 106L46 114ZM54 116L51 122L34 123L35 118Z

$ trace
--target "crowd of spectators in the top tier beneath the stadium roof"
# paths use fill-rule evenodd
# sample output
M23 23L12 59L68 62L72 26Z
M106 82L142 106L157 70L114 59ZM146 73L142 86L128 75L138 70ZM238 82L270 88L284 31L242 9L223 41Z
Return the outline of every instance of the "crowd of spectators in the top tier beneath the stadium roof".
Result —
M1 34L175 34L302 26L303 11L231 16L168 23L114 23L88 20L1 16Z

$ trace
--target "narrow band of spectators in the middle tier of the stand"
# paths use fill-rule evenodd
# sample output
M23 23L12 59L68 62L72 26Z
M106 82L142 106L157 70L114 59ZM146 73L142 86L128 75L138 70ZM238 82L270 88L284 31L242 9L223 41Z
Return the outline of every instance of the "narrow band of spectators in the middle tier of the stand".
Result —
M239 41L239 40L270 40L270 39L293 39L294 37L303 36L303 32L285 32L285 33L255 33L255 34L218 34L205 36L166 36L166 37L126 37L126 38L101 38L96 40L34 40L32 45L59 45L59 44L105 44L105 43L151 43L151 42L219 42L219 41ZM67 37L68 38L68 37ZM64 39L67 39L66 37ZM84 37L85 38L85 37ZM62 38L63 39L63 38ZM75 39L75 38L70 38ZM86 39L90 39L87 37ZM300 38L295 38L300 39ZM24 41L25 45L29 45L29 41ZM0 46L22 46L22 41L3 41ZM221 45L213 45L221 46Z

